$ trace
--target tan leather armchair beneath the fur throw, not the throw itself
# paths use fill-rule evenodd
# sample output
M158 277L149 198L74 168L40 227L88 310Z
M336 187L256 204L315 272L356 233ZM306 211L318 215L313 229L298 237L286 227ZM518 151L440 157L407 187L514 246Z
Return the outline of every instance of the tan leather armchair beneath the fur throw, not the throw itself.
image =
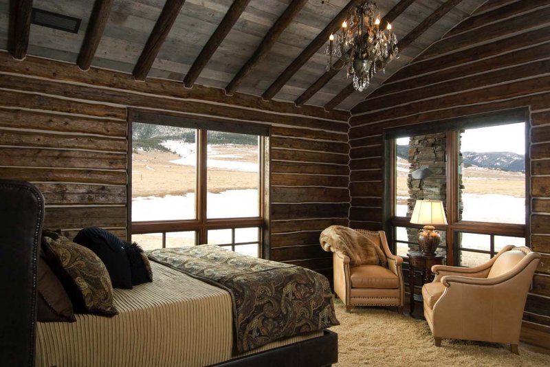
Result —
M353 306L395 306L403 313L405 290L401 264L403 258L390 252L384 231L357 230L379 245L388 260L380 265L350 266L349 257L333 252L334 291L350 312Z

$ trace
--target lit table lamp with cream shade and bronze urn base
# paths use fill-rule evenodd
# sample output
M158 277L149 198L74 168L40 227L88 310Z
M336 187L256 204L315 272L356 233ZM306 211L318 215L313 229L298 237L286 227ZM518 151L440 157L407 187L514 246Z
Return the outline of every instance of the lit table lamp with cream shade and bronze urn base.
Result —
M412 211L410 223L423 224L422 230L418 231L418 244L420 251L425 256L434 256L435 249L441 241L439 231L434 225L447 225L443 201L440 200L417 200L415 210Z

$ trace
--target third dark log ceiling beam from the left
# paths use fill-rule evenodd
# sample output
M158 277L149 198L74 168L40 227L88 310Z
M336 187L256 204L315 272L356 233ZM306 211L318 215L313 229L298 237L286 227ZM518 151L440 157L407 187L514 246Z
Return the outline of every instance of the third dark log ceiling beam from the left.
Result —
M145 80L147 77L159 53L160 47L162 47L162 43L164 43L170 29L172 29L179 15L179 10L181 10L184 3L185 0L166 0L159 19L157 19L157 23L155 23L155 27L153 27L153 31L133 69L132 74L135 80Z

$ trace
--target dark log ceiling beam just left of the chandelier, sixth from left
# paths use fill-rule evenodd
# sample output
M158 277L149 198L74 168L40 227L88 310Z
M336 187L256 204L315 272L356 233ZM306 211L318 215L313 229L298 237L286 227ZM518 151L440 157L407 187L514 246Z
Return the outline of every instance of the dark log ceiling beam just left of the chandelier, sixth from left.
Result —
M362 2L364 0L351 0L340 12L337 16L334 17L334 19L325 27L324 30L316 36L314 41L311 41L309 45L301 52L298 57L290 63L290 65L287 66L285 71L278 76L278 78L273 82L272 85L270 85L269 88L263 93L262 98L264 100L271 100L274 98L274 96L280 91L285 84L300 70L301 67L304 66L305 63L307 63L307 60L311 58L311 56L314 56L316 52L322 47L322 45L325 45L327 40L329 39L329 36L336 32L342 22L347 18L349 10L353 8L355 5L358 5L358 3Z

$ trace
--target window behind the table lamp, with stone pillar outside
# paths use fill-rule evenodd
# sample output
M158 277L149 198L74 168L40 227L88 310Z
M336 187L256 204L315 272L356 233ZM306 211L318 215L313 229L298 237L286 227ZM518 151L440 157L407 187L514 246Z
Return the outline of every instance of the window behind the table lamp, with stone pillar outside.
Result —
M386 219L400 256L417 249L421 225L409 223L417 199L443 201L448 226L438 228L450 265L475 266L505 245L525 245L525 113L454 120L391 131Z

